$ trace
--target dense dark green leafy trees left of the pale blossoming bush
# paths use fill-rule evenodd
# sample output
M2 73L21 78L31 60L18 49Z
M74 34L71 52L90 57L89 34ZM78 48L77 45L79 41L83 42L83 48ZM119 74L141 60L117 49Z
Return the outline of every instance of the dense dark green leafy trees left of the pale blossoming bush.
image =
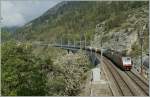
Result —
M26 44L2 44L2 95L42 96L46 94L44 61L32 54Z

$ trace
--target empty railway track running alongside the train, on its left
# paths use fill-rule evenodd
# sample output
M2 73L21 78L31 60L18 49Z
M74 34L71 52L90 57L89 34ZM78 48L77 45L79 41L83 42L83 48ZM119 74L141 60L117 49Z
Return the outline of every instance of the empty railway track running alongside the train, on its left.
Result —
M114 77L114 80L116 82L116 85L118 87L118 92L122 96L134 96L136 95L134 92L132 92L132 89L128 86L128 83L126 83L123 79L123 77L120 75L120 73L116 70L113 63L110 62L105 57L103 58L104 63L106 64L107 68L109 69L110 73Z

